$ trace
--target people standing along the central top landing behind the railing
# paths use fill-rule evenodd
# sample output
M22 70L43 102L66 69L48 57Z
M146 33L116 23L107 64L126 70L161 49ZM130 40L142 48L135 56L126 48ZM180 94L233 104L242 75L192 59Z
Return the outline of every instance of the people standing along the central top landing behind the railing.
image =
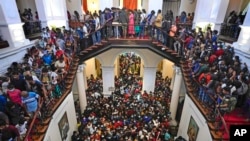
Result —
M70 13L68 12L68 15ZM70 25L76 30L76 33L85 46L100 44L100 40L104 38L154 38L156 41L167 45L171 36L171 27L173 24L192 23L194 13L182 12L176 19L173 12L168 10L162 13L152 10L149 13L145 9L126 9L126 8L106 8L105 10L94 13L86 12L84 21L80 21L79 13L74 12L74 17L81 25ZM71 19L71 16L68 16ZM112 19L112 20L110 20ZM106 23L104 28L103 25ZM84 42L84 43L83 43Z

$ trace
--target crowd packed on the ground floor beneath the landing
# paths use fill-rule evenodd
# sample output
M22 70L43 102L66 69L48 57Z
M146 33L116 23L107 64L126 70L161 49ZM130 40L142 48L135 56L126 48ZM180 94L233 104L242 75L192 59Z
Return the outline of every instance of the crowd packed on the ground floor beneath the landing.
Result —
M173 140L169 104L171 79L156 74L154 92L142 92L142 81L131 65L140 66L140 57L129 52L119 56L120 74L110 97L102 94L102 81L88 78L87 107L78 115L78 131L72 141ZM80 110L79 110L80 111Z

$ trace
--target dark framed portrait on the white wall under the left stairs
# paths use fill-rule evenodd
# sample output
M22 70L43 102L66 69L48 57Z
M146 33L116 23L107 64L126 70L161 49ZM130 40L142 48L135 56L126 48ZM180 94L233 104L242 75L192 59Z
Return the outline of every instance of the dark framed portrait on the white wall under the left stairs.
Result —
M61 134L62 141L65 141L67 139L68 132L69 132L69 121L68 121L68 116L66 112L63 114L62 118L60 119L58 126L59 126L59 131Z

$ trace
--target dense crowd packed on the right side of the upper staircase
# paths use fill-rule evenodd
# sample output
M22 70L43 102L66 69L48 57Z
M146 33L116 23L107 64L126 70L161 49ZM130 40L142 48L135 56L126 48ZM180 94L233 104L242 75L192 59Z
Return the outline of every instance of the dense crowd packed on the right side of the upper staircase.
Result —
M248 66L235 55L234 48L225 45L217 38L217 31L208 27L205 33L201 28L182 30L179 36L184 42L185 60L190 62L190 77L194 82L198 99L207 106L216 107L222 115L235 108L243 110L250 118Z

